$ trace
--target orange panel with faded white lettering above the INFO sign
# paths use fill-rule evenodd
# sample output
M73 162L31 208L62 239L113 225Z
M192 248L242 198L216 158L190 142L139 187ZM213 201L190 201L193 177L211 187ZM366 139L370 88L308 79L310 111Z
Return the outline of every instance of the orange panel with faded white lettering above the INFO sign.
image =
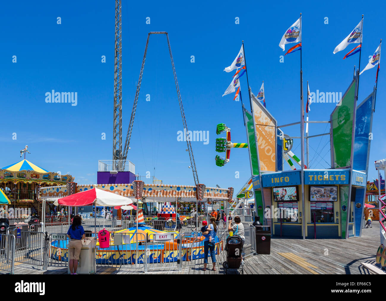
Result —
M251 92L260 170L276 172L276 120Z

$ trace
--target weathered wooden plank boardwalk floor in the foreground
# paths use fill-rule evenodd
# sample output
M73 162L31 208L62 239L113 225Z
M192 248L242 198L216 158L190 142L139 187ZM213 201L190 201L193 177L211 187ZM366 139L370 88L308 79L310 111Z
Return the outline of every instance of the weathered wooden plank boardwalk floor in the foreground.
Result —
M379 247L379 223L363 229L362 237L349 239L284 239L271 240L270 255L256 255L245 260L244 274L369 274L361 262L375 264ZM209 259L210 261L210 259ZM202 262L202 261L200 261ZM154 266L155 267L155 266ZM222 262L212 271L209 262L206 271L203 264L183 266L183 271L160 269L149 274L224 274ZM27 264L15 263L15 274L66 274L63 267L49 267L41 271ZM119 267L97 267L98 274L143 274ZM238 274L238 271L230 271Z

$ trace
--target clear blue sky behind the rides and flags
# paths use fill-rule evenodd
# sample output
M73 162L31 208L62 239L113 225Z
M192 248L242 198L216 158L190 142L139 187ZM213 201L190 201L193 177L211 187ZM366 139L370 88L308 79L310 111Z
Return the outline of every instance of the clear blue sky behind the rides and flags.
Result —
M350 6L337 2L122 2L123 140L130 121L142 57L149 31L167 31L173 52L188 129L209 131L208 144L192 142L200 183L238 190L250 177L247 150L231 151L230 162L215 165L215 126L225 123L232 141L246 142L240 102L222 97L233 73L223 71L245 44L249 85L255 94L264 81L267 109L278 124L300 119L300 52L278 46L285 30L302 13L303 80L310 90L345 92L352 81L359 54L343 60L354 46L333 54L364 14L361 69L386 37L385 4L374 9L365 2ZM290 7L290 9L288 9ZM296 9L294 9L296 7ZM105 1L20 2L1 4L0 166L27 159L53 172L71 173L76 182L97 182L98 160L112 159L115 5ZM57 24L61 17L61 24ZM150 17L150 24L146 24ZM235 18L239 17L239 24ZM328 17L328 24L324 24ZM292 45L286 45L286 50ZM12 56L17 62L12 62ZM101 62L102 55L106 62ZM191 55L195 62L191 63ZM376 177L374 160L385 158L383 112L385 72L381 65L373 121L369 179ZM372 92L376 68L360 78L361 102ZM243 101L249 109L247 81L241 79ZM50 104L45 93L77 92L78 104ZM150 94L151 101L146 101ZM306 93L305 93L306 95ZM335 104L313 104L310 120L327 120ZM299 127L286 128L299 136ZM166 37L151 36L135 115L128 159L136 173L167 184L194 185L186 143L177 141L183 130ZM327 132L325 124L310 126L310 135ZM12 140L17 133L17 140ZM106 140L102 140L106 133ZM311 168L328 168L328 136L310 143ZM124 143L124 141L123 141ZM293 151L300 156L295 141ZM327 161L327 162L326 162ZM288 168L288 166L286 166ZM289 168L288 168L289 169ZM235 173L239 172L239 178ZM148 181L150 182L150 181Z

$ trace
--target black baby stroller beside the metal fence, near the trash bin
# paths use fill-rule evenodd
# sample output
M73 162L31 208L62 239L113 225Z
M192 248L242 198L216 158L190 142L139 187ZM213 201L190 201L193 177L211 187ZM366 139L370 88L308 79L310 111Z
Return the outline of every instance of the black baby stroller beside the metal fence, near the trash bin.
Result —
M239 235L228 236L225 251L227 252L227 261L223 263L225 274L229 270L241 270L241 274L244 274L244 267L241 265L242 238Z

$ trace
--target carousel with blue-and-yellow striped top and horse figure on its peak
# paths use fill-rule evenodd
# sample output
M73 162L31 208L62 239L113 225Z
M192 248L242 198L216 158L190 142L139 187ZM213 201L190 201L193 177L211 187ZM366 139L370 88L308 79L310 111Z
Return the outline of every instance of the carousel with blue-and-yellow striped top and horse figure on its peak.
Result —
M73 182L71 175L60 175L24 159L0 168L0 189L14 207L34 208L40 216L39 188L66 185ZM20 155L23 154L20 151ZM29 153L29 152L28 152ZM40 209L39 209L40 208Z

